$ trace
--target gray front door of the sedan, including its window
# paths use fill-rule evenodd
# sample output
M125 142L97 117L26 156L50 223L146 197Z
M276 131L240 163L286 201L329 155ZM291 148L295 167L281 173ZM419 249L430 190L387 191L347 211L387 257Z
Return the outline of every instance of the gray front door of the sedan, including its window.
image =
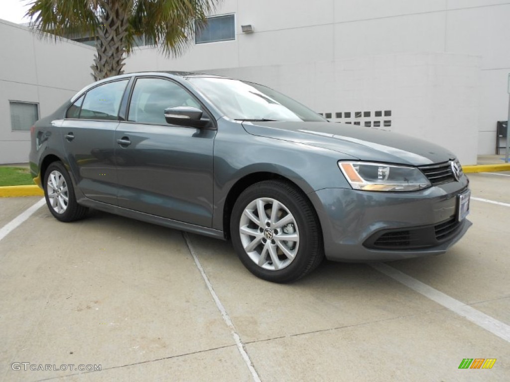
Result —
M211 227L216 130L170 125L164 110L195 106L184 87L167 78L136 79L127 120L115 132L119 206Z

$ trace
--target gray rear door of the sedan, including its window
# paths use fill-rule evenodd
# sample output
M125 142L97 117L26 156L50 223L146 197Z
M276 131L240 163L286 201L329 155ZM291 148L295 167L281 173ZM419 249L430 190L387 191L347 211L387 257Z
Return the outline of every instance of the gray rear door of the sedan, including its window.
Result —
M62 124L71 174L89 198L117 204L114 135L118 112L129 78L89 89L68 109Z

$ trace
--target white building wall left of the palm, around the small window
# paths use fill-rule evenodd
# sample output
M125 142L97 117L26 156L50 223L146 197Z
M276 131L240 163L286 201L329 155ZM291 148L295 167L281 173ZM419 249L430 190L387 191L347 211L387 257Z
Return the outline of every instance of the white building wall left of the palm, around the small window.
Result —
M0 163L27 162L30 131L12 131L9 101L39 104L39 117L54 112L90 84L95 49L69 40L41 40L0 20Z

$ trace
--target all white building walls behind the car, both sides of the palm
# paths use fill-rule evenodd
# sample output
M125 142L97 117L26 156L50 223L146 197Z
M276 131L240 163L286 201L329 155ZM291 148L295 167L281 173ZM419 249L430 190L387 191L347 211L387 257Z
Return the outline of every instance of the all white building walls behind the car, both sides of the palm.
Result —
M238 76L317 112L392 110L392 130L463 142L465 149L454 151L465 164L475 153L494 153L496 121L507 116L510 2L225 0L216 12L231 13L236 40L192 45L177 59L137 49L126 71L218 69L235 76L231 69L247 68ZM243 34L243 24L255 32ZM9 100L37 102L39 116L49 114L92 81L94 49L40 40L2 20L0 35L0 162L26 161L29 133L11 131ZM430 123L443 135L432 135Z

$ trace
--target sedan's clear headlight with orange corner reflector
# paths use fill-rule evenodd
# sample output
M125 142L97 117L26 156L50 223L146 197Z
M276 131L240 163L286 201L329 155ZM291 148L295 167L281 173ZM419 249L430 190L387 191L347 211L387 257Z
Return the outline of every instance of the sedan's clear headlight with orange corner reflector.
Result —
M354 189L364 191L415 191L431 184L416 167L370 162L338 162Z

